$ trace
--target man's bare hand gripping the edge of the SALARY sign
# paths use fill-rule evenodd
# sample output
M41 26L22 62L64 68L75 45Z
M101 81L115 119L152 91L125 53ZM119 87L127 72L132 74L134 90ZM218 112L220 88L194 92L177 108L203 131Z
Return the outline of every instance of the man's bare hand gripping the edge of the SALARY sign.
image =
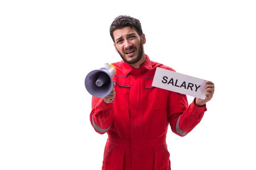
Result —
M209 102L212 99L212 96L214 94L214 83L207 81L206 82L206 92L205 92L205 99L195 99L195 105L202 106Z

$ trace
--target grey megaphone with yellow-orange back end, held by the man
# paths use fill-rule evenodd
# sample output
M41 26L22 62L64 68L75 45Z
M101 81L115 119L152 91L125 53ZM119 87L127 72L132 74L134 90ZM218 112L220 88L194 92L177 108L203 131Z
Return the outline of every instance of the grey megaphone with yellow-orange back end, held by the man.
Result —
M90 71L84 79L84 85L88 93L95 97L108 96L113 89L113 77L116 75L116 67L105 63L98 70Z

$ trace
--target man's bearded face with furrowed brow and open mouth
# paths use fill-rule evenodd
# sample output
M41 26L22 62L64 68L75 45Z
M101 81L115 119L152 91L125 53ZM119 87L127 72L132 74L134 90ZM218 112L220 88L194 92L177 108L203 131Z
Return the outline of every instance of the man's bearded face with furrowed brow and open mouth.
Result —
M143 44L145 35L140 36L135 28L125 27L113 32L116 52L119 53L124 62L134 64L143 56Z

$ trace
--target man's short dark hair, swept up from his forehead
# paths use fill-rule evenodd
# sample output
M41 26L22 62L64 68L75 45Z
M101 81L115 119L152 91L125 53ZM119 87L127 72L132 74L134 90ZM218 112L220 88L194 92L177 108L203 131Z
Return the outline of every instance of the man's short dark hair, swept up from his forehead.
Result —
M110 36L111 36L113 42L115 42L113 32L116 29L122 29L127 26L130 26L131 28L134 27L139 35L143 34L143 31L141 28L141 23L138 19L130 17L130 16L126 16L126 15L119 15L118 17L116 17L113 20L113 22L109 28Z

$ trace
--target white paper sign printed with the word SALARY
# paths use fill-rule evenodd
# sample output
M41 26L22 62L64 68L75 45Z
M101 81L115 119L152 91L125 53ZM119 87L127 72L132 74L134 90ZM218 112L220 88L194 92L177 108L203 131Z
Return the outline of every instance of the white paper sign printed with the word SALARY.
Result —
M152 86L205 99L206 80L157 67Z

